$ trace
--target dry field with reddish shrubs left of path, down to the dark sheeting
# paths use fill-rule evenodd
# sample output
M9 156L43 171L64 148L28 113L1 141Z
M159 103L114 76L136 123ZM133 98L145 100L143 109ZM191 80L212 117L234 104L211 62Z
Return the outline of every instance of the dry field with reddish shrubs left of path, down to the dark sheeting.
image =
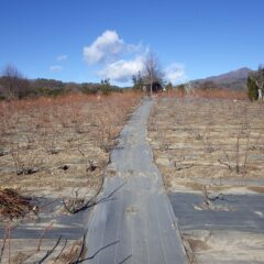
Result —
M2 102L1 187L38 195L63 195L84 184L94 188L138 102L130 94Z

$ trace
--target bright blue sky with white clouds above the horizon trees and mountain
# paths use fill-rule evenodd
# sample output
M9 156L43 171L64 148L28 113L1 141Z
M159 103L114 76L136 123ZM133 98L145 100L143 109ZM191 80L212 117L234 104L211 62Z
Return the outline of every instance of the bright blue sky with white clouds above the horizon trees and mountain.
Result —
M0 69L121 86L153 51L168 80L264 63L262 0L0 0Z

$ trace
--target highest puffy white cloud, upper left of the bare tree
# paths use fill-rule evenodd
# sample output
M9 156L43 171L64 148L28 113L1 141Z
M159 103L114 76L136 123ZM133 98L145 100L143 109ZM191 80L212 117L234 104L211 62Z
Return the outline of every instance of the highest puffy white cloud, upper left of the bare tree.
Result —
M84 57L90 64L111 62L124 48L124 42L116 31L106 31L90 46L84 47Z

